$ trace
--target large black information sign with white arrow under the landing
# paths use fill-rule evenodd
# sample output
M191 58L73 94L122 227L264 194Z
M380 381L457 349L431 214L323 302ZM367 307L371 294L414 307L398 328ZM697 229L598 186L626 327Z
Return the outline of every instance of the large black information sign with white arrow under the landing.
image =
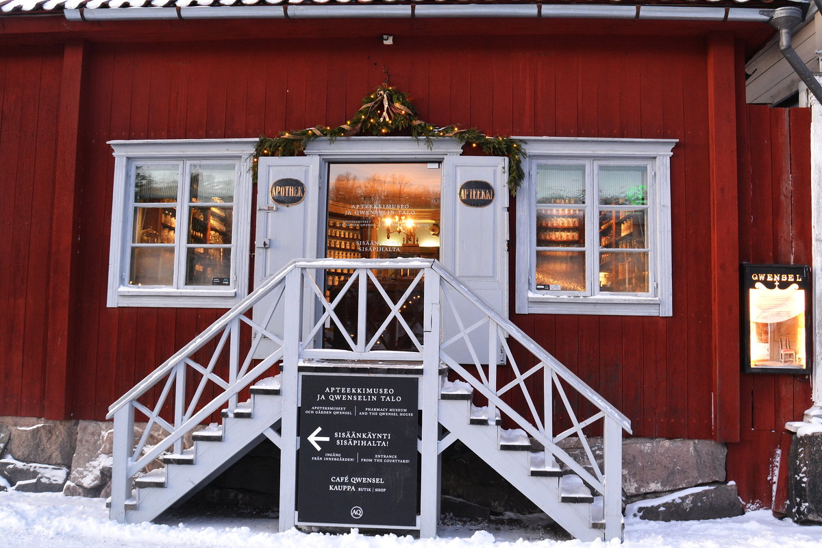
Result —
M303 375L299 523L417 523L416 377Z

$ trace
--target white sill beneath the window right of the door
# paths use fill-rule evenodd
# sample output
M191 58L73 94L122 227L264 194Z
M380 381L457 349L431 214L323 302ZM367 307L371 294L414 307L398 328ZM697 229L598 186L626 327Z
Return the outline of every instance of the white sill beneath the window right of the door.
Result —
M553 297L529 292L520 314L665 315L657 297Z

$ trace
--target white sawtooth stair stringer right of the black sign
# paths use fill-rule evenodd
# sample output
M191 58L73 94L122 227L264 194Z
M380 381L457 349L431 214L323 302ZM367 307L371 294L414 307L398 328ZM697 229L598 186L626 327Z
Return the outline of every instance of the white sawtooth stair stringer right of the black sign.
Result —
M499 449L499 426L470 425L467 402L440 400L440 424L474 454L543 510L560 527L580 541L604 540L604 532L591 527L591 504L561 502L560 478L530 475L529 453Z

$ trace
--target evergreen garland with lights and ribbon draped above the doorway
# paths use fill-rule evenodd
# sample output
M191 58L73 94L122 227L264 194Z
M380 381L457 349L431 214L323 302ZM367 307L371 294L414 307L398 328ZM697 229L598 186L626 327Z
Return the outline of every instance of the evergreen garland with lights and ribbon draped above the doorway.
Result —
M410 134L414 139L424 139L432 148L434 139L450 138L460 145L480 147L485 154L508 158L508 189L515 195L522 184L524 172L522 158L526 155L520 140L510 137L490 137L471 127L459 129L456 125L436 127L419 119L417 109L408 95L388 84L380 85L363 98L363 106L342 126L307 127L299 131L283 131L276 137L261 136L254 149L253 170L256 181L256 164L260 156L296 156L306 145L318 137L334 142L337 137L387 136L391 133Z

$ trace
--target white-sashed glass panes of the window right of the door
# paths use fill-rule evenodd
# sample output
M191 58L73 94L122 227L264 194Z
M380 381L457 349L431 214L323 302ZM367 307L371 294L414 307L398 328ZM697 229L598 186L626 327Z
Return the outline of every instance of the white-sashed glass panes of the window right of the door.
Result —
M534 289L649 294L649 163L537 163Z

